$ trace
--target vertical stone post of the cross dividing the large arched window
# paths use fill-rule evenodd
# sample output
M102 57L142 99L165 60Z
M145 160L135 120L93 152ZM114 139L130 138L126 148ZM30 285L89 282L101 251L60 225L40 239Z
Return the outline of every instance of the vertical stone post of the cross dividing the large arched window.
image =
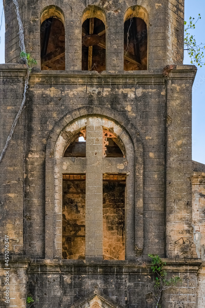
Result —
M102 126L86 126L85 258L103 258Z

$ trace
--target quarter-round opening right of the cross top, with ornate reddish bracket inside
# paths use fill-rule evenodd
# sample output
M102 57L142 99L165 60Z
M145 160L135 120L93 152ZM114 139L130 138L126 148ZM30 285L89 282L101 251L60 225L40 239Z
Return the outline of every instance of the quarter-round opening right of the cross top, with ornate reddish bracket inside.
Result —
M118 138L109 132L108 130L103 130L103 156L104 157L125 157L121 148L122 144L119 144ZM125 150L124 150L125 152Z

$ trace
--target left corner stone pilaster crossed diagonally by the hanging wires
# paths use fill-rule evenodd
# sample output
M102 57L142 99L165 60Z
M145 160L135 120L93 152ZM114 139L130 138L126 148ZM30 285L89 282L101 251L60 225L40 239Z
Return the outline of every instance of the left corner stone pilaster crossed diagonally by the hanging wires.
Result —
M18 113L23 98L26 66L1 64L0 153ZM9 80L9 84L5 84ZM9 111L9 114L7 113ZM9 252L23 254L23 114L0 163L0 238L10 238ZM2 243L1 243L2 246ZM2 253L2 251L1 251Z

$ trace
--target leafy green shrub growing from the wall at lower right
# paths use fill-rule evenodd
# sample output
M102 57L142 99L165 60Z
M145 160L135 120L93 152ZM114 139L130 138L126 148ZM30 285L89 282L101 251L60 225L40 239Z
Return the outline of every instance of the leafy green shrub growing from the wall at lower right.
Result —
M161 308L160 300L162 297L162 292L175 286L182 280L179 276L166 279L167 273L163 270L163 266L166 265L166 262L162 262L158 255L149 254L148 256L152 259L152 272L156 274L154 290L151 290L154 299L153 308Z

